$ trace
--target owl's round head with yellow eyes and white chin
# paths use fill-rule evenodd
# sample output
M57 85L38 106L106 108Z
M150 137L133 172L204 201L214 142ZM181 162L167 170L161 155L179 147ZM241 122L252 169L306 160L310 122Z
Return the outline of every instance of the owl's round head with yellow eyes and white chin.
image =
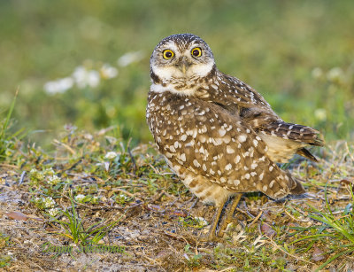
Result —
M200 37L170 35L156 46L150 57L151 77L162 82L196 79L208 75L215 66L212 51Z

